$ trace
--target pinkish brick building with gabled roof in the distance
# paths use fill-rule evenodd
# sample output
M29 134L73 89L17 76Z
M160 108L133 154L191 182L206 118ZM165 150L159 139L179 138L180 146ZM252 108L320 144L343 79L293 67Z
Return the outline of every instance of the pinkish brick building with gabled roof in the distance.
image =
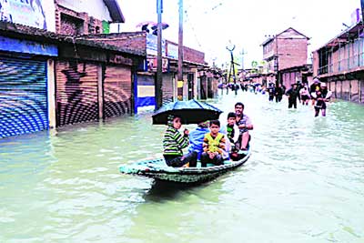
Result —
M276 76L276 83L284 86L290 86L293 80L302 81L305 77L302 73L307 72L308 40L308 36L289 27L263 42L264 69L268 76Z

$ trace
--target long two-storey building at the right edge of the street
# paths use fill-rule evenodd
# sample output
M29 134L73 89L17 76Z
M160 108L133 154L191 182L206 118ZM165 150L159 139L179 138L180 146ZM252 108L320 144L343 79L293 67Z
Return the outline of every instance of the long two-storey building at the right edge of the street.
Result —
M328 83L333 96L364 104L364 26L361 22L313 52L313 75Z

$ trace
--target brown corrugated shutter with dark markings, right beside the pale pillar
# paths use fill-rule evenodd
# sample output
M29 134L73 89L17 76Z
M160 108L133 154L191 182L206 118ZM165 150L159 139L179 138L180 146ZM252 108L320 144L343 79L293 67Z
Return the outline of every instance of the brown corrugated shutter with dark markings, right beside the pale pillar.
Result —
M57 127L98 119L97 66L56 62Z

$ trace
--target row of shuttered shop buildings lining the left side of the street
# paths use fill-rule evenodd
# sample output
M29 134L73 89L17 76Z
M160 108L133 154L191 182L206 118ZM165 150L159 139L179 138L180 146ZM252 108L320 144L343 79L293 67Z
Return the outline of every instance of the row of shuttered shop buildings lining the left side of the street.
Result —
M30 1L2 8L0 137L130 115L155 105L157 36L108 34L112 25L125 21L116 0L37 3L41 12ZM177 96L176 50L175 43L164 46L164 103ZM198 97L201 68L207 68L204 53L185 46L187 98Z

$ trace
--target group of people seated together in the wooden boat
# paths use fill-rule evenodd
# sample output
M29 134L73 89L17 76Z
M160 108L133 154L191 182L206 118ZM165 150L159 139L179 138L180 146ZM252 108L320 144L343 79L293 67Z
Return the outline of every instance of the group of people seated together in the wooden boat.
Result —
M182 126L179 116L168 116L167 130L163 139L163 157L169 167L201 167L207 164L219 166L226 160L239 160L246 156L253 124L244 114L244 104L235 104L235 112L227 114L227 125L219 120L204 121L191 132ZM188 148L183 154L182 149Z

